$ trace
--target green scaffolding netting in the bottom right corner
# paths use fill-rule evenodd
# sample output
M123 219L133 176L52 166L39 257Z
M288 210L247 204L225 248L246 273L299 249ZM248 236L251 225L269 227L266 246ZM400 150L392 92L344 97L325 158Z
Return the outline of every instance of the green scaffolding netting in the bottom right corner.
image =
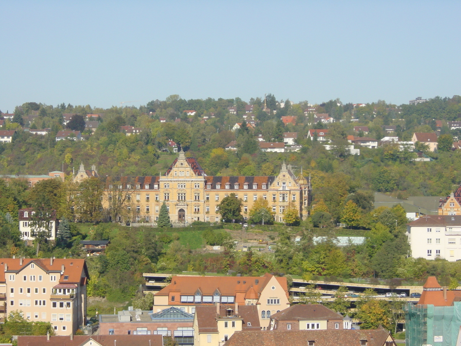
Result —
M406 346L456 346L461 326L461 302L453 306L405 307Z

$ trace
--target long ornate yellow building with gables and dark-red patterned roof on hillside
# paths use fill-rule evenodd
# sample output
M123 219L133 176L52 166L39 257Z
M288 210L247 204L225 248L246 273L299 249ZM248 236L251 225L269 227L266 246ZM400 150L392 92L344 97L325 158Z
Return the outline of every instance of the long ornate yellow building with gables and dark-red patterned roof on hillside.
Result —
M79 175L85 176L83 172ZM106 185L103 206L107 218L116 222L155 222L163 202L175 226L219 222L218 205L231 193L242 200L245 219L254 201L263 198L268 200L275 221L283 222L290 203L305 219L311 200L310 178L302 173L296 176L290 165L283 164L278 176L207 176L195 158L182 151L164 175L100 179Z

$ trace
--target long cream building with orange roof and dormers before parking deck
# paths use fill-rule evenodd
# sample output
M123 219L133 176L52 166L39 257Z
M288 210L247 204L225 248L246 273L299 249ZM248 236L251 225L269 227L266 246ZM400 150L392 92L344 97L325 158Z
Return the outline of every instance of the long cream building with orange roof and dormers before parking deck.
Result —
M271 315L284 310L288 301L287 281L272 274L264 276L173 276L171 284L154 295L154 311L168 306L195 313L196 306L215 304L255 305L261 327Z

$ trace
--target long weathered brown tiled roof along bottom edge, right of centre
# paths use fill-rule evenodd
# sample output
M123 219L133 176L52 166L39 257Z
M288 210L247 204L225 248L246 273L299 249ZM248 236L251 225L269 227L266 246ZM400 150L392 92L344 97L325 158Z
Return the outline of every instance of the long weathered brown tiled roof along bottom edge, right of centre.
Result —
M384 328L343 330L241 331L234 333L225 346L396 346ZM413 345L412 345L413 346Z

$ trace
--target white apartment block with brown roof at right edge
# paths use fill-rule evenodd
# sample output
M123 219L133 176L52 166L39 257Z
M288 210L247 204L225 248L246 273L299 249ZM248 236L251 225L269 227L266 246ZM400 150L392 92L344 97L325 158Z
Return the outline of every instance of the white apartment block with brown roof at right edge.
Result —
M408 223L412 257L461 259L461 215L428 215Z

